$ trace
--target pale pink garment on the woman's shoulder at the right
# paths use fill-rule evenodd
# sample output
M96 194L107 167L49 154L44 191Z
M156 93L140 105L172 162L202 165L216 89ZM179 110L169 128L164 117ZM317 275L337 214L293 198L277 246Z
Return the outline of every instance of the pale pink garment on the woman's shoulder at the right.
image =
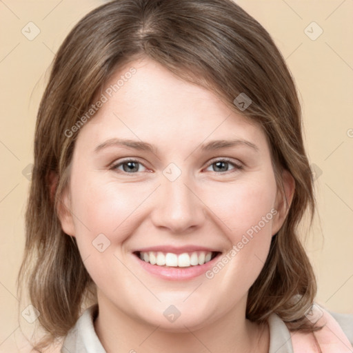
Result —
M353 353L339 323L325 309L314 304L307 319L323 328L312 333L290 332L294 353Z

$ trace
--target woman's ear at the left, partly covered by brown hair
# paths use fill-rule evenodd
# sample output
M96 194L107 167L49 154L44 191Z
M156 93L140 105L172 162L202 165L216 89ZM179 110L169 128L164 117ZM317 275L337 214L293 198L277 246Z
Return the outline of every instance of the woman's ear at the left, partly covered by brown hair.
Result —
M49 174L50 182L50 199L54 201L55 190L57 189L58 175L54 171L50 171ZM68 235L74 236L74 221L71 213L70 205L70 190L68 185L66 185L65 190L63 190L58 203L58 217L61 223L61 228L63 232Z

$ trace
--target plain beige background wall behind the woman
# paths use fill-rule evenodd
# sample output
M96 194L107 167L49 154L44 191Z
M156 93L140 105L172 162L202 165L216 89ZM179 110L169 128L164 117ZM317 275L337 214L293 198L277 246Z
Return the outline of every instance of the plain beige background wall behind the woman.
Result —
M305 143L317 177L319 216L307 242L319 282L317 301L330 310L353 313L353 1L236 2L272 34L299 88ZM26 167L32 163L47 68L74 23L101 3L0 1L1 352L18 352L15 282L24 245ZM21 32L35 33L30 21L40 30L32 41ZM321 29L321 36L312 40Z

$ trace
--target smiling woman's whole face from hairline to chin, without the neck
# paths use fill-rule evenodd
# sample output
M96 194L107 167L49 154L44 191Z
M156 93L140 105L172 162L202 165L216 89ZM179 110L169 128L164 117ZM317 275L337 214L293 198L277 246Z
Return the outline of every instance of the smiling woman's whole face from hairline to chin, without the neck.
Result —
M245 312L285 217L265 134L150 59L102 93L60 215L99 305L165 330Z

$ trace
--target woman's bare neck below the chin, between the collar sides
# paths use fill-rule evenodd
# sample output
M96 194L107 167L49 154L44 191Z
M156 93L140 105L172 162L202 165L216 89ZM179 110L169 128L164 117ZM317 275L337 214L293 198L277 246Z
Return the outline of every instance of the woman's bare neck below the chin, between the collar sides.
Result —
M246 304L246 299L245 299ZM99 301L99 315L94 328L107 353L180 353L180 352L256 352L268 353L268 325L245 319L245 306L234 307L227 314L196 330L163 330L139 318L128 316L107 299ZM261 344L259 344L261 343Z

